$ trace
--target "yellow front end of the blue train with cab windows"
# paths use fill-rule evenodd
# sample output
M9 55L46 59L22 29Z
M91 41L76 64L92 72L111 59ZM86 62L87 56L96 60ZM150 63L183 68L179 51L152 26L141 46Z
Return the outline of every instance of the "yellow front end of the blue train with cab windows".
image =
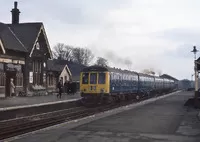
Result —
M81 95L109 94L109 72L81 72L80 92Z

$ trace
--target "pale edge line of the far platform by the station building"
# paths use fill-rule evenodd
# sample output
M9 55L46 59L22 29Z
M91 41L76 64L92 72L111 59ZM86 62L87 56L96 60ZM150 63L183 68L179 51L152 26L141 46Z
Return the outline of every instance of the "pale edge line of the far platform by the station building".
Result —
M53 104L59 104L59 103L67 103L67 102L77 101L79 99L80 98L70 99L70 100L63 100L63 101L55 101L55 102L47 102L47 103L40 103L40 104L32 104L32 105L21 105L21 106L13 106L13 107L4 107L4 108L0 108L0 111L8 111L8 110L14 110L14 109L22 109L22 108L45 106L45 105L53 105Z

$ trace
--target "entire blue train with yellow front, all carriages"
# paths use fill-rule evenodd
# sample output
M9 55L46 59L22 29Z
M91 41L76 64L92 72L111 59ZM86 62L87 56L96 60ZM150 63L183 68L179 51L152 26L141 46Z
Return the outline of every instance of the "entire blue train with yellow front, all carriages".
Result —
M176 89L174 80L118 68L89 66L80 72L80 94L84 105L140 100Z

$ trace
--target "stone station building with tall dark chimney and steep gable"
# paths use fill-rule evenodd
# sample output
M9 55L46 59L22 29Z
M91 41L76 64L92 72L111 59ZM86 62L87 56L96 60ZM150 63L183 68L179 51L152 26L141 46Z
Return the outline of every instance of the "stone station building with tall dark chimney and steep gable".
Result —
M42 22L20 23L14 2L12 23L0 23L0 94L10 96L10 79L16 90L46 89L46 64L52 58Z

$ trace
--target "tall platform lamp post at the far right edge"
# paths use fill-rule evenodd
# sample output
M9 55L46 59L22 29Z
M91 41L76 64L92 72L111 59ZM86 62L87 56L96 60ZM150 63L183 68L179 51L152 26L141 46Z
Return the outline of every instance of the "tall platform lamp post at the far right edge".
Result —
M195 94L194 94L194 98L195 98L195 106L198 105L198 72L197 72L197 63L196 63L196 53L198 52L198 50L196 49L196 46L193 46L193 50L191 51L194 53L194 77L195 77Z

